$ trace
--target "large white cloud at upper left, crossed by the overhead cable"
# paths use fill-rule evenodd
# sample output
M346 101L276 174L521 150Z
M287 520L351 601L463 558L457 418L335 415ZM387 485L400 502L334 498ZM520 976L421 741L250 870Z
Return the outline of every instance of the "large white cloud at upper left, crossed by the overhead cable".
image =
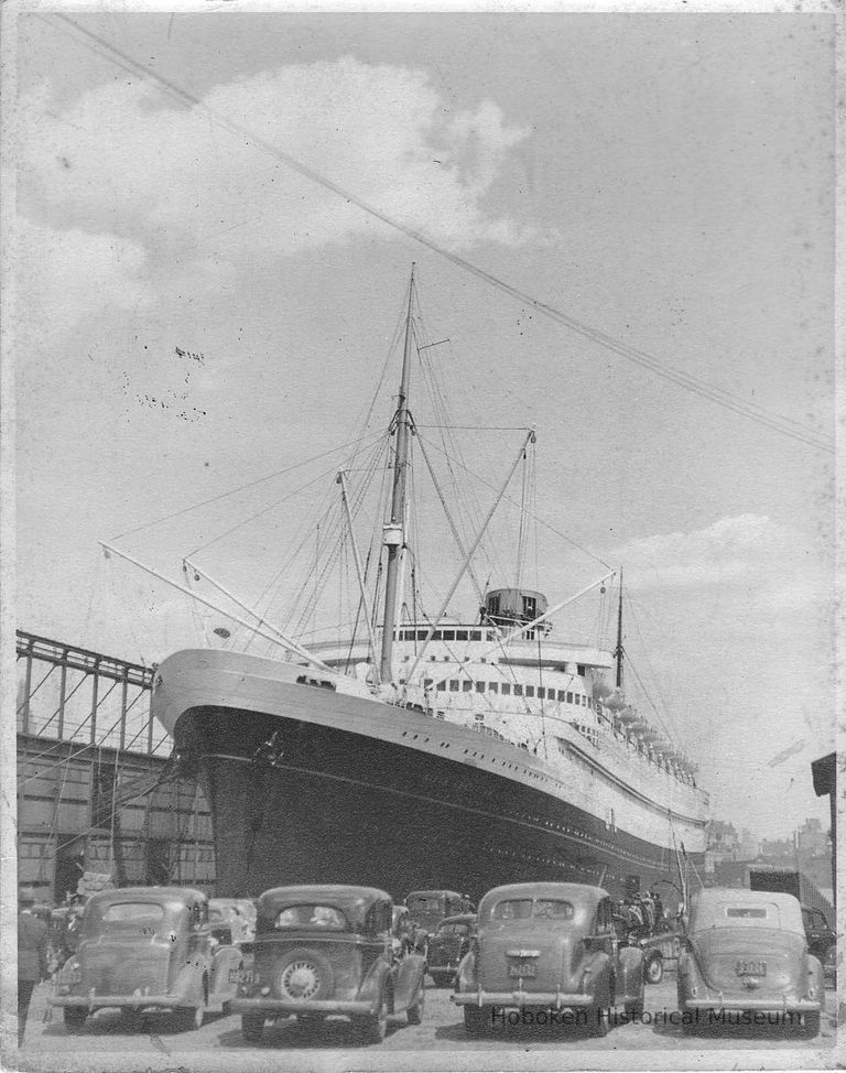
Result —
M46 89L22 102L28 210L118 231L173 254L199 239L223 257L295 252L383 231L337 194L209 118L237 124L452 248L519 243L529 231L486 212L528 130L489 100L452 113L420 71L290 65L210 90L203 107L116 82L61 112ZM152 264L151 264L152 268Z

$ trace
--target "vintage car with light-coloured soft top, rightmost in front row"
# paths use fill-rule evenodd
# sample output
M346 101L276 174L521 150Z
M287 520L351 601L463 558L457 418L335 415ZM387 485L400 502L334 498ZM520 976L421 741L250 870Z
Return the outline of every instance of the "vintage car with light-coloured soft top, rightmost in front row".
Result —
M762 1015L801 1020L813 1037L823 986L792 895L711 888L694 896L676 977L683 1031Z

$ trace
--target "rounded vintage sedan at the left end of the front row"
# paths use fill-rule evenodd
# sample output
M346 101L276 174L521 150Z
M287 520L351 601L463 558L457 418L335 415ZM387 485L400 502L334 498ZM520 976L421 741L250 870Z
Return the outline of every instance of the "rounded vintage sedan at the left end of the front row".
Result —
M199 890L124 887L93 895L50 1002L63 1008L69 1031L106 1007L131 1022L144 1010L167 1009L185 1028L199 1028L206 1012L224 1011L235 994L229 975L242 958L227 939L228 930L213 935Z

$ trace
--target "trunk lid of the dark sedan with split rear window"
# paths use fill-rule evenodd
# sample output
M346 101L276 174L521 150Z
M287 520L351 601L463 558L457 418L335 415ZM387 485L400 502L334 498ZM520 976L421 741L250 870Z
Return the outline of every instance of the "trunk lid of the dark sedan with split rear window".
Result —
M479 983L485 990L492 991L517 990L520 979L527 991L577 989L575 963L581 953L581 942L566 931L539 933L536 929L513 929L479 936ZM531 968L527 975L519 976L519 966Z

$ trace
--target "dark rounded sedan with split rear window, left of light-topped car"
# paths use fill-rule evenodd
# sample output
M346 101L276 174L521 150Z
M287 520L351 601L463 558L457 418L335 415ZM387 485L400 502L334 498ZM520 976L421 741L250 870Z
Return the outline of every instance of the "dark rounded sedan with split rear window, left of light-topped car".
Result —
M599 887L534 882L495 887L479 902L476 939L452 999L468 1036L505 1010L555 1010L604 1036L611 1010L643 1010L643 952L620 946L611 900Z

